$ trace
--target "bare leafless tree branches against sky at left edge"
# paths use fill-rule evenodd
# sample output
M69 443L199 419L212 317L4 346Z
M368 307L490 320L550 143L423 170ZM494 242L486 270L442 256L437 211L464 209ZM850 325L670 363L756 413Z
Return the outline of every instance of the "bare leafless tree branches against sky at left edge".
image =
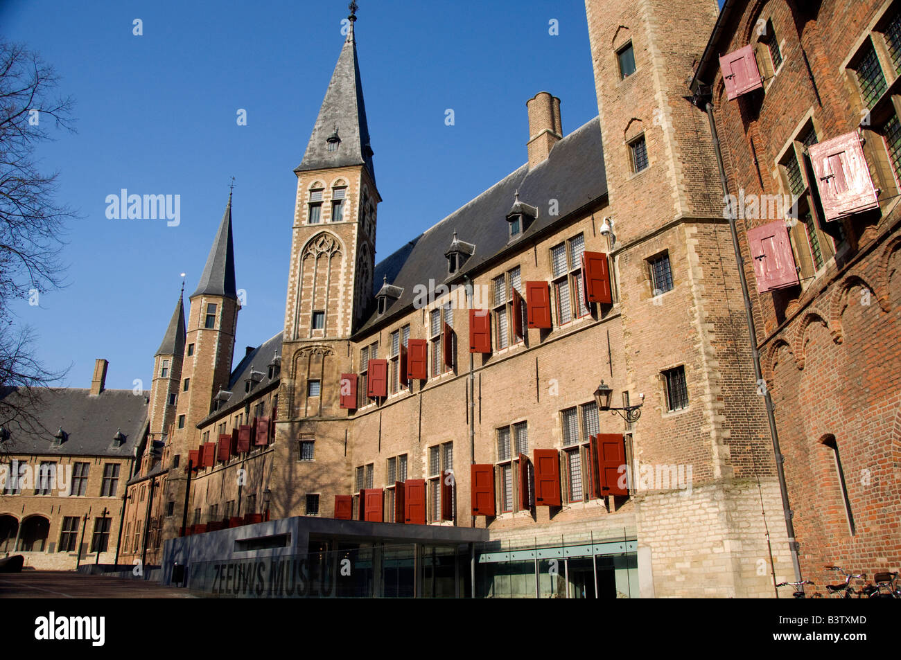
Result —
M59 289L65 221L77 217L56 202L59 172L41 173L35 149L48 129L74 131L71 97L56 94L59 77L21 44L0 40L0 426L34 428L36 397L59 383L35 357L34 333L17 322L14 301L37 303ZM0 447L0 452L4 450Z

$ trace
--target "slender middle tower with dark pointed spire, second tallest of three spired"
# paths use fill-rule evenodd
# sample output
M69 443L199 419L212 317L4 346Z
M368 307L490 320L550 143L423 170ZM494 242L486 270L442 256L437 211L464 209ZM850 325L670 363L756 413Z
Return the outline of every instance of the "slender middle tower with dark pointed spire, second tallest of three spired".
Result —
M166 500L175 502L177 515L168 517L165 538L177 534L185 505L187 452L200 444L197 423L212 410L213 397L227 389L232 374L235 330L238 325L238 293L234 280L232 244L232 194L206 258L200 283L189 299L187 332L180 380L177 382L175 425L164 459L179 466L168 475Z

